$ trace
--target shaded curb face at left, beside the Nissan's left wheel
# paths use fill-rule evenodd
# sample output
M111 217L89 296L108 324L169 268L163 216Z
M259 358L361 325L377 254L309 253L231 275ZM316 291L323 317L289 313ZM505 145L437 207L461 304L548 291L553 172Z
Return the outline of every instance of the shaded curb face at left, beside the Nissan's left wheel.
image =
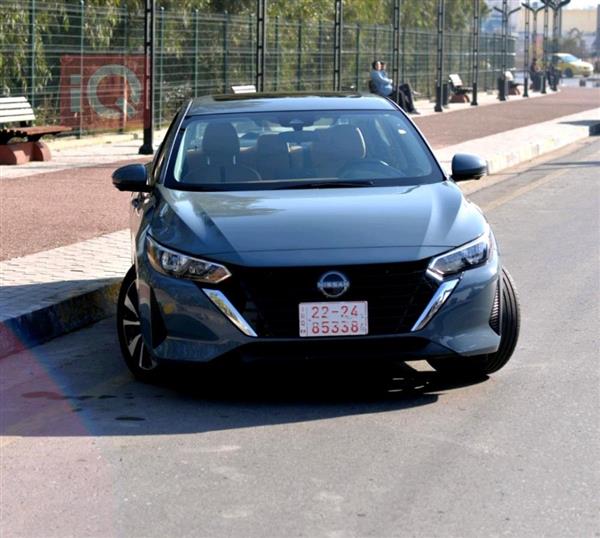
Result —
M76 331L115 314L121 281L0 322L0 358Z

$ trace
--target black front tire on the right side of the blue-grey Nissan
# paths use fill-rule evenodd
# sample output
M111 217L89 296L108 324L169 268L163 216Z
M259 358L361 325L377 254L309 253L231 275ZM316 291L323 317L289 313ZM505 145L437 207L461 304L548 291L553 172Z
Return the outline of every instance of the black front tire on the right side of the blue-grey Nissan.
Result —
M431 359L427 362L438 372L456 376L483 376L502 368L512 356L521 328L521 308L515 283L506 269L502 269L500 347L495 353L452 359Z

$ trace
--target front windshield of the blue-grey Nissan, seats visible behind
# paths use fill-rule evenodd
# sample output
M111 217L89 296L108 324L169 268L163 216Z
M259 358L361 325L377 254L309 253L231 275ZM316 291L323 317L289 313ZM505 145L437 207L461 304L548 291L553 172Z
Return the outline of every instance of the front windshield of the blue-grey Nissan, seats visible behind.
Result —
M252 190L415 185L443 180L410 122L394 111L194 116L176 141L167 186Z

